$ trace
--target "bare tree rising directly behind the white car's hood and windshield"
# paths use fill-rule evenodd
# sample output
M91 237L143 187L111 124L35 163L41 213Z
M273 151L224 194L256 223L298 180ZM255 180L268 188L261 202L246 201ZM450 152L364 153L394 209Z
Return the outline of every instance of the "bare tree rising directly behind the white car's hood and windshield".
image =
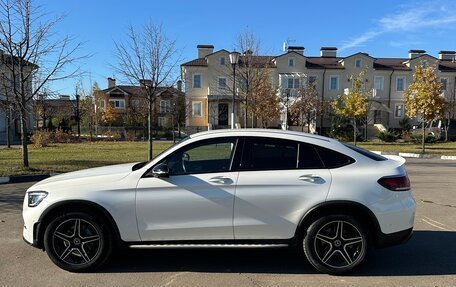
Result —
M131 84L141 83L141 96L148 104L149 160L152 159L153 106L160 87L172 86L177 77L173 72L180 57L176 55L176 42L165 35L162 25L152 21L138 30L130 26L127 40L115 42L117 65L113 69Z

